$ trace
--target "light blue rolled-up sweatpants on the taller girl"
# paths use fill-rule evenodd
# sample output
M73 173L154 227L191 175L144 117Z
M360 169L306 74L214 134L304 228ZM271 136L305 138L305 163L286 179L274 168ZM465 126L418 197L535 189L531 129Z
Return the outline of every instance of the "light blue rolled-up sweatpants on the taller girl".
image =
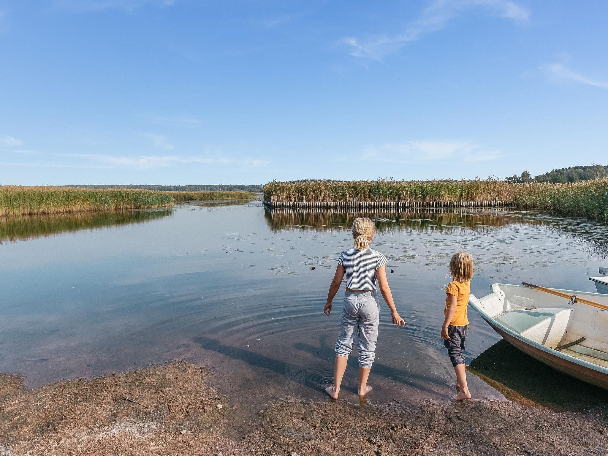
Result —
M336 342L336 354L348 357L358 338L359 367L371 367L376 358L378 341L378 294L376 291L347 291L344 297L342 323Z

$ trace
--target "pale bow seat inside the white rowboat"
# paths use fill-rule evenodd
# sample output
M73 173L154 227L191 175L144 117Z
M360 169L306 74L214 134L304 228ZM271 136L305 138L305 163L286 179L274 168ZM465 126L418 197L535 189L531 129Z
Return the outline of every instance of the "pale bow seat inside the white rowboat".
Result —
M571 309L516 309L505 312L495 320L522 337L545 347L555 348L564 337Z

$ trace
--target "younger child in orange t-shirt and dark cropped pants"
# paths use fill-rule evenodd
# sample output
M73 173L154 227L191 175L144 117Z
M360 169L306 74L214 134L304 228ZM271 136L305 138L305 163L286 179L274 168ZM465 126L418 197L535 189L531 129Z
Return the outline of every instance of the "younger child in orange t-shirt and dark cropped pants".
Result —
M466 385L465 350L466 333L469 320L466 318L466 308L469 305L470 281L473 277L473 258L466 252L458 252L450 260L450 275L452 282L447 285L446 308L443 311L445 319L441 328L441 339L447 348L456 371L457 395L454 399L464 401L471 399L469 387Z

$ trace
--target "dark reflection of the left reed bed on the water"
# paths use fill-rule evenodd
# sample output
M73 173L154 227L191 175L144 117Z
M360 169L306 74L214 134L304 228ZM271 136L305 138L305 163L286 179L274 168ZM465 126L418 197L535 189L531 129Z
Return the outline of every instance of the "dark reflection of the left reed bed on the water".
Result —
M172 214L173 209L153 209L0 217L0 244L7 241L13 243L33 238L48 238L65 232L145 223Z

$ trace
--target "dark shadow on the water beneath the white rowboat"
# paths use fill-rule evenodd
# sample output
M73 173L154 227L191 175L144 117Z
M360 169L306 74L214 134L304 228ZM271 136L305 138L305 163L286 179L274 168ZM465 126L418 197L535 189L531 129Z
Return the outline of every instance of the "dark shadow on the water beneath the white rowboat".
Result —
M471 361L468 370L519 404L567 412L608 413L608 391L562 374L506 340Z

